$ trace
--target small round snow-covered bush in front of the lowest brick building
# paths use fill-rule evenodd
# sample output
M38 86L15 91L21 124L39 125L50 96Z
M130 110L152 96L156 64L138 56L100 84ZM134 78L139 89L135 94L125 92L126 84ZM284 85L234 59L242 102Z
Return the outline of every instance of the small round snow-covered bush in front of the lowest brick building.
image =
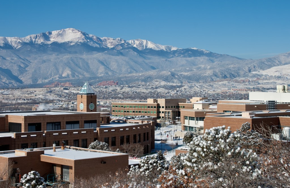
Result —
M22 188L45 188L44 178L36 171L31 171L28 174L24 174L20 180L18 186Z

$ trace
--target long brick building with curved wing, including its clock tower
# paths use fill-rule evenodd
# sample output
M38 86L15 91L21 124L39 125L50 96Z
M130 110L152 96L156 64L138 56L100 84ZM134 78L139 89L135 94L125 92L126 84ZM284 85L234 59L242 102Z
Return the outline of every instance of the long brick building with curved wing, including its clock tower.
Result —
M110 122L109 113L96 112L96 95L86 82L77 96L77 112L43 110L0 112L0 151L51 147L53 143L87 148L95 140L113 149L139 143L154 149L156 119Z

